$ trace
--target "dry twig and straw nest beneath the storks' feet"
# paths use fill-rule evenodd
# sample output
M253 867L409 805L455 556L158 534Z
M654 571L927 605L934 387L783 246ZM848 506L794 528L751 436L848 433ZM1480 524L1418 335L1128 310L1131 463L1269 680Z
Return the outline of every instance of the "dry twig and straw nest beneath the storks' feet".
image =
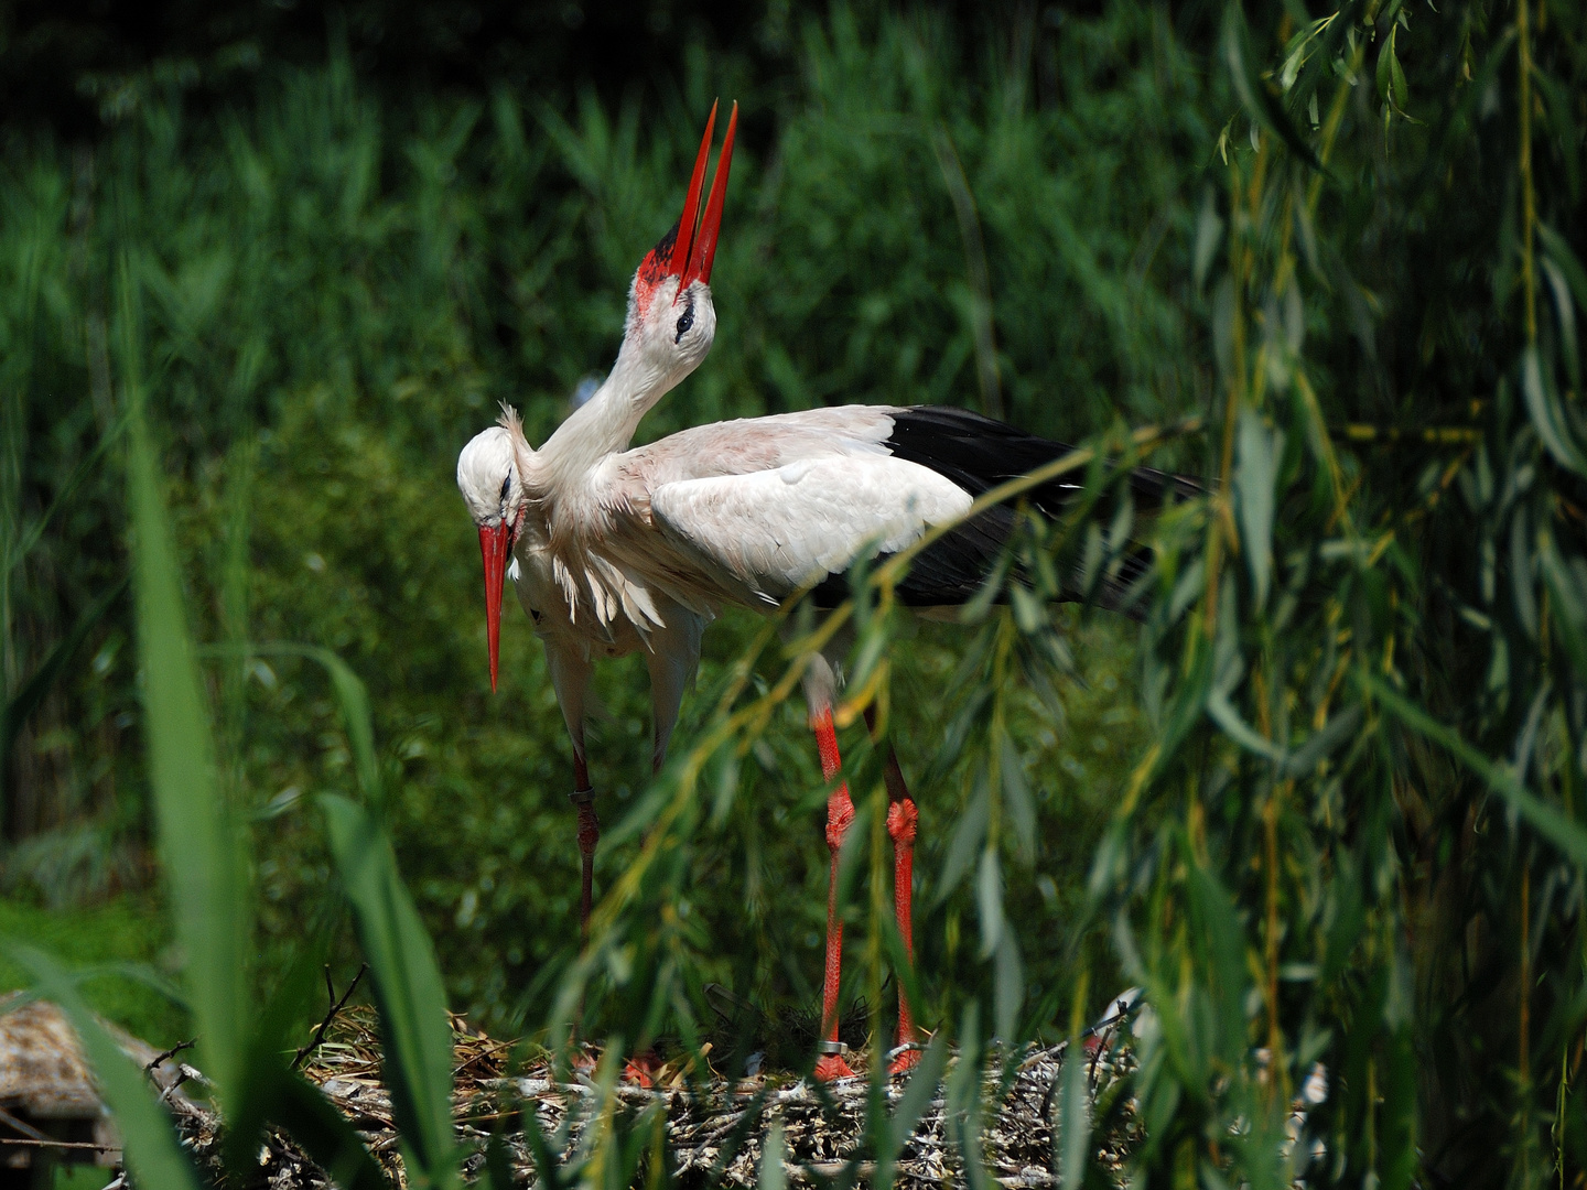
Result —
M689 1063L674 1061L654 1071L652 1087L617 1081L609 1092L594 1081L594 1068L559 1079L544 1058L521 1071L511 1069L511 1042L494 1041L454 1017L454 1119L459 1144L470 1154L465 1174L481 1179L484 1152L492 1133L505 1142L514 1185L540 1179L525 1138L524 1112L533 1111L554 1160L579 1165L608 1128L643 1130L649 1134L657 1117L665 1120L671 1173L682 1185L754 1187L760 1177L768 1131L779 1125L790 1180L811 1184L843 1173L851 1163L860 1180L873 1173L865 1134L871 1093L865 1077L844 1079L822 1093L790 1076L759 1074L727 1081L694 1077ZM1127 1033L1127 1030L1125 1030ZM1006 1090L982 1084L981 1147L989 1173L1006 1187L1057 1184L1055 1114L1065 1046L1028 1047L1009 1071ZM1132 1104L1122 1092L1133 1055L1117 1035L1087 1044L1084 1058L1087 1095L1097 1131L1095 1157L1116 1185L1125 1182L1125 1163L1141 1133ZM952 1069L952 1068L951 1068ZM392 1182L406 1187L392 1119L390 1096L381 1082L381 1049L373 1015L367 1009L343 1012L303 1073L352 1122ZM895 1106L908 1076L887 1084ZM183 1142L219 1177L221 1122L205 1107L175 1103ZM271 1190L322 1190L330 1180L284 1134L270 1131L259 1152L259 1184ZM895 1166L901 1187L962 1185L963 1158L947 1119L941 1087L922 1112ZM647 1180L641 1169L635 1182Z

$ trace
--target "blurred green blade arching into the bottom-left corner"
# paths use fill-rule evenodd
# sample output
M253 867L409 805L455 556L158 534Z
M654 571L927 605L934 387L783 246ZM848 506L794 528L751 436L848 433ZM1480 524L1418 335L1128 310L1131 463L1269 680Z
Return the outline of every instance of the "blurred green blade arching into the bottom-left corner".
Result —
M149 1081L89 1011L78 995L76 981L43 950L10 939L0 939L0 949L33 976L38 992L57 1003L78 1031L105 1103L121 1128L127 1166L138 1185L198 1190L192 1163L176 1141L170 1117L156 1103Z

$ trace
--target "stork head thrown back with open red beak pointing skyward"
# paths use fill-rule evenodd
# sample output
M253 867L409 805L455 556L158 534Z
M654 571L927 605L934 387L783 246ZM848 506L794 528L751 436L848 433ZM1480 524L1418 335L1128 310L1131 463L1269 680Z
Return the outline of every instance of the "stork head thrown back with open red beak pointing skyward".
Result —
M722 230L722 200L727 175L733 163L733 133L738 130L738 105L727 119L727 136L711 179L711 197L700 213L705 187L705 165L716 130L716 105L705 125L700 154L684 198L682 214L673 230L662 236L640 262L628 289L628 322L624 332L627 349L641 357L673 382L694 371L716 336L716 308L711 305L711 265L716 260L717 235Z

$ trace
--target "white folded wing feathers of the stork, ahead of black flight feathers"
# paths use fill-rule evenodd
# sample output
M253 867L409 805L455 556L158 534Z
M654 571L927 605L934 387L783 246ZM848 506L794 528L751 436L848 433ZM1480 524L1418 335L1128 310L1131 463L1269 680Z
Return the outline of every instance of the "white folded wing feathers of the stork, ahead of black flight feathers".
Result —
M970 503L951 479L884 454L805 459L651 492L655 527L716 585L773 603L865 554L905 549Z

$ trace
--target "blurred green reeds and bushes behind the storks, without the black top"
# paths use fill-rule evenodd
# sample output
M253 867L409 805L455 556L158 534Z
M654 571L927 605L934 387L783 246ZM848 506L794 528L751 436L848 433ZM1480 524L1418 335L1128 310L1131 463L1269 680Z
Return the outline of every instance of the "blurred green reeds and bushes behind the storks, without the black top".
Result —
M1120 49L1138 62L1130 90L1093 92L1073 76L1071 108L1022 111L1001 63L984 70L984 87L938 90L955 73L947 63L968 54L941 29L811 27L808 90L770 109L738 90L746 127L776 117L778 135L762 144L746 135L736 162L711 363L643 433L820 400L989 401L1055 436L1182 411L1197 382L1181 363L1189 319L1165 290L1187 287L1193 148L1211 125L1195 105L1170 102L1201 86L1171 40L1149 13L1078 29L1074 48L1095 75L1111 73ZM690 73L700 86L709 78ZM722 73L717 86L732 86L732 62ZM874 78L897 90L878 92ZM435 98L387 113L333 63L281 79L256 111L217 122L156 105L79 159L78 175L41 149L13 155L14 259L33 270L37 292L29 357L11 357L37 378L17 409L30 468L17 495L48 500L114 424L113 363L94 355L114 344L92 336L113 321L127 254L148 286L143 354L168 468L181 476L200 633L321 644L368 682L386 763L402 777L406 871L460 1006L495 1028L573 936L571 770L538 644L516 620L503 695L489 698L478 557L452 462L498 400L544 436L574 386L608 367L628 274L676 217L706 106L701 94L641 119L636 105L608 113L586 100L563 116L503 92L487 105ZM998 319L990 395L976 379L984 295L965 281L944 168L987 195L978 209L992 290L1030 295L1009 297ZM1032 240L1039 251L1027 251ZM1159 263L1174 254L1178 268ZM97 368L110 386L103 409ZM71 395L67 409L52 392ZM52 644L125 565L116 473L111 452L27 563L38 582L17 584L24 670L41 652L21 647L27 635ZM110 627L95 628L103 644L79 651L75 676L24 728L17 779L49 809L14 831L67 823L14 855L13 879L32 871L48 890L76 874L92 887L90 865L105 860L78 843L86 827L71 808L97 803L100 822L136 830L124 804L141 800L125 614L125 603L113 606ZM713 663L733 657L749 627L720 625ZM1054 928L1060 898L1073 895L1060 876L1084 866L1086 838L1135 746L1135 700L1117 697L1130 681L1125 639L1114 625L1087 628L1087 684L1065 687L1076 722L1060 728L1033 712L1027 733L1046 741L1028 763L1054 814L1052 862L1041 865L1049 892L1025 881L1024 896ZM954 649L952 633L932 630L905 658L905 681L919 678L900 697L917 733L903 747L919 762L935 750L928 727L946 693L932 674ZM644 678L636 663L606 670L597 776L625 798L646 776ZM257 830L265 928L295 938L327 881L311 798L298 798L346 784L340 720L321 673L290 655L217 660L213 674L238 795L270 816ZM56 747L40 747L51 731ZM800 955L765 977L805 998L819 974L824 801L795 712L776 755L782 776L746 803L701 871L719 892L700 904L720 912L717 936L744 938L735 906L746 871L798 882L805 895L779 898L774 914L767 906L754 941L724 952ZM933 857L952 797L925 797L924 814ZM125 846L110 830L92 839ZM613 868L621 862L614 854ZM767 928L778 946L767 946ZM1060 958L1055 946L1051 962Z

